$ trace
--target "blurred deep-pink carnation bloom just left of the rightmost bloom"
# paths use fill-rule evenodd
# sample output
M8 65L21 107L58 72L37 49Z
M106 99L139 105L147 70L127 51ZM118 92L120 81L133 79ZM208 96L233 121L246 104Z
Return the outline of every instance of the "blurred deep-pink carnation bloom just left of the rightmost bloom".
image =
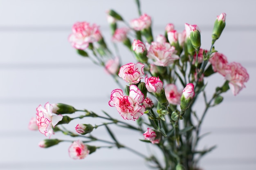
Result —
M212 57L209 59L209 62L211 63L214 72L217 71L221 75L225 76L225 70L228 67L228 61L225 55L218 52L213 53Z

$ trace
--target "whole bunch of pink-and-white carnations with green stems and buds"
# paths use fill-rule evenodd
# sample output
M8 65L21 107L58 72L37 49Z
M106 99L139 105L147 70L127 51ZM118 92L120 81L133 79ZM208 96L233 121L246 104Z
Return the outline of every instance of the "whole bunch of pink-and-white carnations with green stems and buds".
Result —
M72 142L67 150L73 159L84 159L100 148L117 147L143 157L150 162L150 166L159 170L198 170L200 158L214 149L213 146L198 150L198 142L202 138L201 125L207 111L220 104L222 93L229 89L237 95L245 87L249 75L241 64L229 63L227 57L214 47L225 27L225 13L218 15L215 20L210 48L202 49L197 25L186 23L184 31L177 32L174 25L169 23L163 35L153 38L151 17L141 13L139 0L135 2L139 18L128 23L119 13L109 10L107 20L115 53L118 53L116 43L123 43L137 63L121 64L121 58L110 51L96 24L76 22L68 38L79 55L103 66L120 86L113 89L108 102L117 112L109 114L103 111L98 114L68 104L47 102L44 107L39 105L36 108L36 117L30 120L29 129L39 130L49 138L39 143L42 148L67 141L50 139L57 132L76 137L67 141ZM118 27L119 22L126 27ZM215 73L222 75L224 81L207 99L206 79ZM193 107L199 97L204 101L202 116L198 116ZM76 117L77 112L82 115ZM124 120L115 118L118 113ZM83 120L86 117L104 122L92 125ZM74 119L81 119L81 123L68 130L65 124ZM133 121L137 121L137 124ZM138 142L156 146L162 155L144 155L121 144L110 129L110 124L140 132L143 139ZM94 136L94 131L100 126L106 128L112 141ZM96 141L107 146L97 146Z

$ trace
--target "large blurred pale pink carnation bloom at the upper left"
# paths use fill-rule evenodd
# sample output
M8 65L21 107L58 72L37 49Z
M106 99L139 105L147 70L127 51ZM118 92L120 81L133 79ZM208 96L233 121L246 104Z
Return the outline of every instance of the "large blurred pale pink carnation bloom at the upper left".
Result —
M89 43L97 42L102 38L99 26L96 24L90 26L88 22L76 22L72 27L72 32L68 40L76 49L84 50Z

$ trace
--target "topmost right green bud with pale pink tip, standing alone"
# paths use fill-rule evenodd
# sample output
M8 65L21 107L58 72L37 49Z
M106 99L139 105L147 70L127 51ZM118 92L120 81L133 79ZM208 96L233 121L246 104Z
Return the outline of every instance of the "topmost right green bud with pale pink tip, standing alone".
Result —
M226 13L221 13L220 15L217 16L217 19L213 26L213 33L211 35L213 42L215 42L218 38L220 38L220 34L222 33L226 25L225 20L226 20Z

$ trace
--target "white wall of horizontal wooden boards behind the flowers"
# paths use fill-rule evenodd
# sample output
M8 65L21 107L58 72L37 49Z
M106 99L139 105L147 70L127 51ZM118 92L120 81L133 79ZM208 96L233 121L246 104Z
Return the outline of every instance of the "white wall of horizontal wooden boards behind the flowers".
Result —
M229 62L245 66L250 79L239 95L234 97L229 91L224 102L209 111L202 132L212 133L200 147L218 147L200 165L204 170L255 170L255 1L141 0L141 5L153 18L154 36L163 33L169 22L179 31L186 22L198 24L202 48L208 49L216 15L227 13L226 28L216 49ZM67 41L77 21L101 25L103 35L110 40L105 13L110 8L127 21L137 18L133 0L0 0L0 170L148 169L143 159L126 150L101 149L86 159L72 160L67 153L70 143L39 148L44 135L27 128L36 107L46 102L67 103L97 113L103 109L119 117L115 108L108 106L109 95L117 85L102 68L78 56ZM124 48L121 57L124 63L134 61ZM210 82L221 85L223 79L216 75ZM108 138L103 129L97 131ZM138 141L143 138L139 134L120 128L115 131L121 143L147 153Z

